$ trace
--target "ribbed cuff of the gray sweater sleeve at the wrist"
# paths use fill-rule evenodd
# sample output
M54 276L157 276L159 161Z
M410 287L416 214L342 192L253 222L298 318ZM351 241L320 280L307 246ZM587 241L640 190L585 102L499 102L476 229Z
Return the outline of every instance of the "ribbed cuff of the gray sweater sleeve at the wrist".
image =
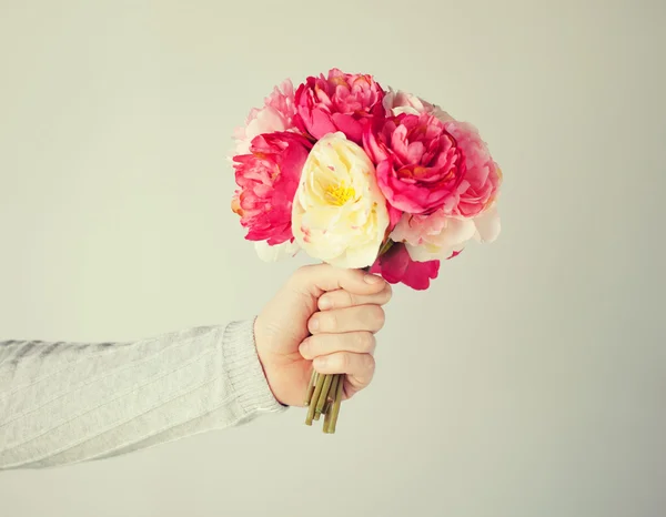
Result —
M280 413L278 402L261 366L254 342L254 320L230 323L223 337L224 368L244 416Z

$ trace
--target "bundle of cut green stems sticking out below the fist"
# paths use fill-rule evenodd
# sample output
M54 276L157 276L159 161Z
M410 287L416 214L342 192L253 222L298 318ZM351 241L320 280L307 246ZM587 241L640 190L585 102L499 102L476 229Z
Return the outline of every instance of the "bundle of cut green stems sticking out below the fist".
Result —
M324 415L324 433L334 434L340 415L345 374L319 374L314 369L310 377L305 405L307 416L305 425L312 425Z

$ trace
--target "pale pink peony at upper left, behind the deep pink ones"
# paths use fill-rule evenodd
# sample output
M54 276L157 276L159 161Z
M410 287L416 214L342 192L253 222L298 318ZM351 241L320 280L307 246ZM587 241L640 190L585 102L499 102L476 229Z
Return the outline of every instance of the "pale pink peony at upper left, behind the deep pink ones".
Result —
M294 87L287 79L273 89L263 108L250 111L243 128L236 129L236 154L248 154L250 142L260 134L295 130L295 114Z

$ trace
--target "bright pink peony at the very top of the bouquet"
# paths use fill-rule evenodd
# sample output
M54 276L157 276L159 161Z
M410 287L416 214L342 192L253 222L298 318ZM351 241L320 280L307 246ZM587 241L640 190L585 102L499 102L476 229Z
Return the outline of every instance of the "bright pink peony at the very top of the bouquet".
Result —
M343 73L332 69L329 77L310 77L296 90L295 123L303 132L320 140L342 131L361 143L364 121L383 116L384 91L372 75Z

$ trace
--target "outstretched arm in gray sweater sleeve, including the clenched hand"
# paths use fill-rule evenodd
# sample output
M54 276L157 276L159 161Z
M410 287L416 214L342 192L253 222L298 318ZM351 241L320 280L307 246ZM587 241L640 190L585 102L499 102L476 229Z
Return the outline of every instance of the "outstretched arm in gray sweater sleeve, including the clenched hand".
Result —
M118 456L303 405L312 368L374 373L391 287L299 270L253 321L133 343L0 342L0 470Z

